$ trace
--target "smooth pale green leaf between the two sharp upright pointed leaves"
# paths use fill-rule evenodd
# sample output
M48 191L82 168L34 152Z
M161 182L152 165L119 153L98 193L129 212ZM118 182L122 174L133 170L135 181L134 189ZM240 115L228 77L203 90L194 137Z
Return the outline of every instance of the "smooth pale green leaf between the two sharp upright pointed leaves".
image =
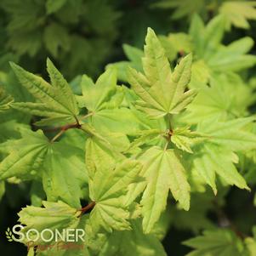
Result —
M136 134L139 123L128 108L122 107L123 88L117 87L117 72L110 68L94 83L82 76L82 96L77 100L88 109L88 122L100 133L115 137L117 134ZM125 139L125 138L122 138Z

